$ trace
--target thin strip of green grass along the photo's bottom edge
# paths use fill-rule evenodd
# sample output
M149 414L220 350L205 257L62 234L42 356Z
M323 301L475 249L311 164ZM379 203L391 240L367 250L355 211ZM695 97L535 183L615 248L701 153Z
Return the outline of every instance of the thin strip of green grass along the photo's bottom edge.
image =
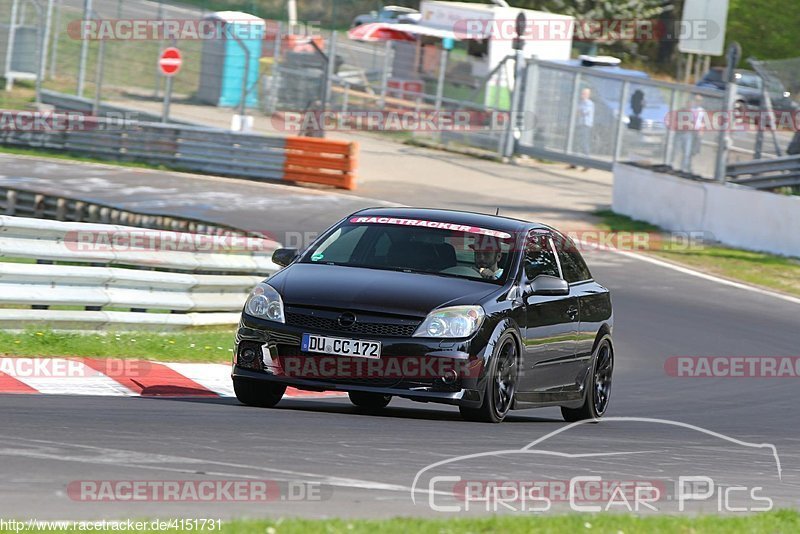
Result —
M58 530L56 530L58 531ZM63 529L61 532L78 532ZM127 532L123 530L124 532ZM160 532L176 532L177 530ZM220 532L219 530L206 532ZM735 517L677 517L632 515L559 515L559 516L492 516L485 518L414 519L395 518L387 520L306 520L286 519L274 521L231 521L223 523L221 532L237 534L449 534L449 533L502 533L502 534L547 534L547 533L625 533L625 534L737 534L770 533L789 534L800 531L800 514L781 510L757 515ZM13 532L0 530L0 532ZM25 532L45 532L45 529L26 529ZM48 530L48 532L53 532ZM131 531L133 532L133 531ZM138 530L136 532L158 532Z

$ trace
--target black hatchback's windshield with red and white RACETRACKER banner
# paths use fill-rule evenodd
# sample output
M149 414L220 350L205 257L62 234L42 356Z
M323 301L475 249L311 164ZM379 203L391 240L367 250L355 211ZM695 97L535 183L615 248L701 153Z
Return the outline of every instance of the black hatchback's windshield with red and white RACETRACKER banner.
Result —
M353 217L309 248L301 263L344 265L505 282L513 237L467 225Z

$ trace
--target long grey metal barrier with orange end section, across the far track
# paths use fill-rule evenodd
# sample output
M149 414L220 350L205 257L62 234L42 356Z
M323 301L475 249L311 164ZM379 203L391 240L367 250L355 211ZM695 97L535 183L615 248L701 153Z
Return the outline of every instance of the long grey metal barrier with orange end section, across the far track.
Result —
M356 186L357 144L328 139L87 118L81 129L2 130L0 144L251 180L311 182L344 189Z

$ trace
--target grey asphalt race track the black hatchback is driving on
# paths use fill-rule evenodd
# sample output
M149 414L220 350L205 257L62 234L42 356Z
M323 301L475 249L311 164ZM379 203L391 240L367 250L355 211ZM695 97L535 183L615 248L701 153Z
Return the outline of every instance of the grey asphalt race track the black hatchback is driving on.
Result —
M24 162L17 165L15 172L4 167L4 182L32 184L38 179L25 172ZM28 162L28 171L35 168ZM64 168L58 167L59 172ZM113 181L102 175L102 167L84 167L82 172L84 180L95 180L84 195L99 197L104 194L99 186ZM62 188L79 185L59 176ZM187 190L175 180L158 183L153 173L135 178L137 187L154 188L128 191L124 197L143 209L186 210L229 224L249 221L251 228L270 221L278 223L270 227L277 228L274 233L316 232L352 209L376 203L280 186L271 189L269 198L263 189L254 197L248 184L231 189L229 196L214 197L219 188L228 187L219 184L232 182L194 182L194 189ZM153 184L146 181L150 179ZM37 187L45 185L39 181ZM113 187L108 185L108 197L119 198ZM160 189L170 187L179 190L165 200ZM234 193L247 201L233 205ZM297 199L305 204L285 208ZM797 378L676 378L664 368L670 356L797 356L798 304L612 252L586 255L595 277L612 290L615 305L617 366L608 416L657 418L699 428L631 420L571 428L535 447L559 456L477 456L427 471L418 481L423 491L416 494L415 504L409 488L420 469L461 455L518 450L563 428L560 414L552 409L515 412L501 425L486 425L463 422L449 407L397 399L375 416L359 413L344 399L290 400L262 410L227 399L6 395L0 397L0 517L441 515L428 505L431 493L425 490L430 476L442 472L472 480L551 481L575 474L612 480L705 475L719 485L763 487L776 507L800 506ZM771 449L743 442L775 446L780 480ZM607 456L578 456L593 453ZM266 479L307 488L321 484L321 490L319 499L296 502L278 498L203 504L81 502L67 491L70 482L81 480L154 479ZM674 512L676 505L665 499L657 508ZM554 508L565 507L559 503ZM696 511L719 508L712 498Z

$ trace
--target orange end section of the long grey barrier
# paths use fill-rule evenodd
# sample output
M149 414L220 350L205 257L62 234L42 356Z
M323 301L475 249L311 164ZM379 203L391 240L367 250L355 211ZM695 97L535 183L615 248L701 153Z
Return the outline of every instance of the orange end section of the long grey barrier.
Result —
M358 143L287 137L283 179L355 189L357 155Z

